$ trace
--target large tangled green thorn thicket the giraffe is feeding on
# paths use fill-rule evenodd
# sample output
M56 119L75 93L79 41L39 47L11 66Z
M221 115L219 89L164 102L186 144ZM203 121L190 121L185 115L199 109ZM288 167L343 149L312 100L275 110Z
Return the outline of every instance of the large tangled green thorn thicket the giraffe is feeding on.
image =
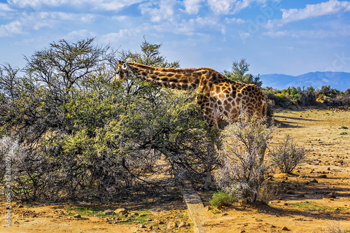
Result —
M1 66L0 179L10 155L13 195L24 200L109 201L154 188L154 174L201 182L210 130L193 93L112 82L118 59L179 62L146 41L136 53L93 41L61 40L25 57L24 69Z

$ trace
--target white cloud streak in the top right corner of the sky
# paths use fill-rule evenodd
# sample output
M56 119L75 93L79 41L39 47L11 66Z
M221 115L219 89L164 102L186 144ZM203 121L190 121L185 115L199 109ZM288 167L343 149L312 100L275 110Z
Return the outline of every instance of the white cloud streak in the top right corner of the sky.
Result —
M297 20L305 20L311 17L321 15L332 15L350 10L350 1L330 0L318 4L309 4L302 9L281 9L283 12L283 22L292 22Z

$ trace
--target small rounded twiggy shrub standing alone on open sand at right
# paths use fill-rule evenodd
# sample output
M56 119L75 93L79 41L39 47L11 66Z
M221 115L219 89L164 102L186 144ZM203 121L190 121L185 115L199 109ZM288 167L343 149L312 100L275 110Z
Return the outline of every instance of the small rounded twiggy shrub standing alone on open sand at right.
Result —
M281 172L290 174L305 157L305 149L298 148L293 143L292 137L287 134L283 143L272 150L271 157Z

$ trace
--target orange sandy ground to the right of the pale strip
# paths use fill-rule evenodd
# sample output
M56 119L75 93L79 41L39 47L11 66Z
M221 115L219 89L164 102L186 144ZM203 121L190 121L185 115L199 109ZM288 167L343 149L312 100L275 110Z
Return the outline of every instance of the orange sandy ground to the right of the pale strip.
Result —
M328 232L325 230L340 225L350 230L350 112L300 109L279 110L274 115L281 126L269 148L289 134L294 143L308 150L307 159L295 168L293 175L274 175L271 182L281 191L268 206L237 205L204 211L205 229L208 232ZM318 183L309 182L313 179ZM330 193L335 198L328 197Z

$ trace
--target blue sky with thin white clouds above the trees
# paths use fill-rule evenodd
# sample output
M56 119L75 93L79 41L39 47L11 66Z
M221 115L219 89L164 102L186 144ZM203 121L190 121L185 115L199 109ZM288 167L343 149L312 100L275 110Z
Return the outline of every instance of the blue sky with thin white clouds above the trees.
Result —
M0 0L0 64L95 36L133 52L145 36L182 68L230 70L245 58L253 75L350 72L350 1Z

